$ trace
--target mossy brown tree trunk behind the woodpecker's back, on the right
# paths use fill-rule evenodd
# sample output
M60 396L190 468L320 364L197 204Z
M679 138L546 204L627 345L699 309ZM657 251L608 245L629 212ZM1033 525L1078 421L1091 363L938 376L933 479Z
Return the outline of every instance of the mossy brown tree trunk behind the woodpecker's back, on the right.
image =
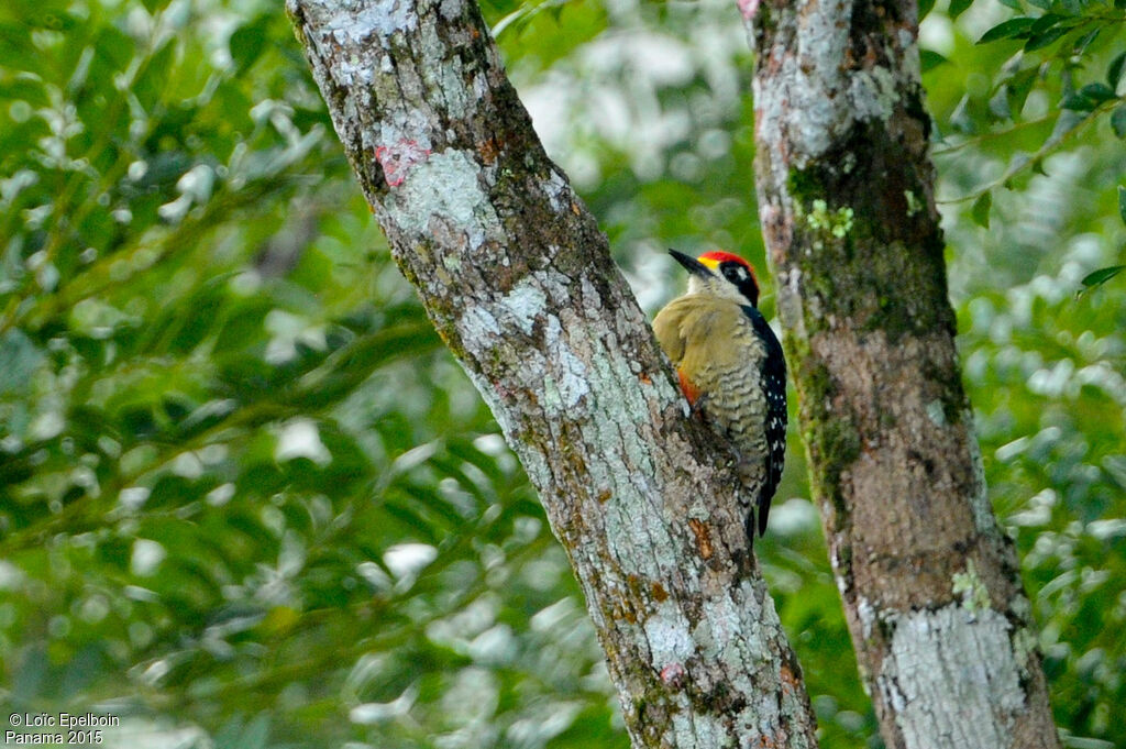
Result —
M813 492L884 740L1058 747L962 386L915 3L740 7Z

